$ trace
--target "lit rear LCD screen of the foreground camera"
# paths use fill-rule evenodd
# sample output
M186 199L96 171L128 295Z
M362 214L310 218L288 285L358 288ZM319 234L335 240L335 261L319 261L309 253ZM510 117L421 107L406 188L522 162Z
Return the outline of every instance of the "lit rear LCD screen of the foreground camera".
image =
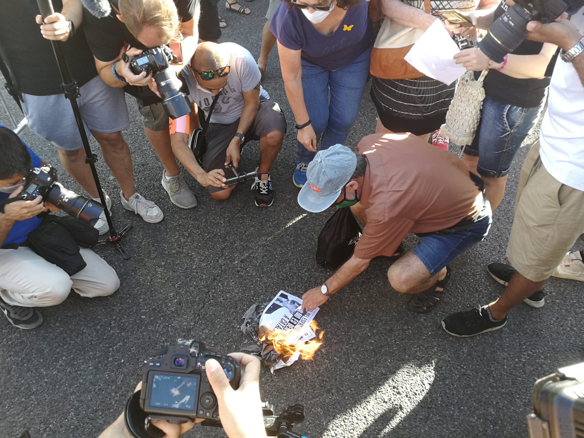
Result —
M154 374L150 407L194 411L197 404L198 377Z

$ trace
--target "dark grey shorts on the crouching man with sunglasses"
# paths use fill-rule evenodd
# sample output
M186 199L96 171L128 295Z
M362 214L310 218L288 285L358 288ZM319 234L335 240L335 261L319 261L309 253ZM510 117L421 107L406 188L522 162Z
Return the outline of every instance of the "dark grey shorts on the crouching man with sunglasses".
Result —
M210 123L205 140L207 141L207 152L203 155L203 169L205 172L213 169L225 170L225 156L233 135L237 133L239 119L231 124ZM272 100L262 99L259 103L258 114L253 120L252 126L245 133L245 142L250 140L260 140L272 131L286 133L286 119L280 106ZM229 170L229 169L227 169ZM232 172L231 172L232 173ZM220 192L221 187L208 186L209 192Z

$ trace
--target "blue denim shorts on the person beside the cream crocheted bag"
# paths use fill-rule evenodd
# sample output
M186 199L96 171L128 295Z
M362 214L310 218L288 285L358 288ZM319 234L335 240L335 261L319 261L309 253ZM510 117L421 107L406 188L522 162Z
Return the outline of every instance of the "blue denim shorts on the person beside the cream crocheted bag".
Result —
M478 157L477 171L486 178L509 173L513 158L540 117L541 106L522 108L491 98L482 103L481 120L464 153Z

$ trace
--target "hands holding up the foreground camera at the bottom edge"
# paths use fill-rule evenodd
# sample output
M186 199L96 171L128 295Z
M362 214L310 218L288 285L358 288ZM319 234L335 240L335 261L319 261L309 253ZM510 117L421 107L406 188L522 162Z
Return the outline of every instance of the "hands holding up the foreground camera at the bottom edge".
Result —
M224 365L220 365L215 359L207 359L204 363L205 366L203 367L206 373L206 377L203 377L203 380L208 380L208 384L210 384L212 391L217 398L221 426L230 438L265 437L266 430L262 419L262 408L259 395L260 361L256 357L244 353L231 353L228 356L231 356L231 359L229 357L224 357L224 359L227 359L228 361L235 360L240 364L239 369L241 370L241 375L239 387L235 390L232 388L230 380L225 376L222 368ZM237 364L235 365L237 366ZM165 371L161 371L161 373L163 372ZM190 374L190 376L195 375L196 374ZM144 383L138 384L136 391L141 390L143 384ZM177 388L172 389L174 390L173 394L179 392ZM145 385L144 391L148 393ZM147 397L147 395L144 397ZM182 395L180 395L180 397L182 397ZM107 427L99 438L133 438L135 434L128 430L128 427L126 426L127 421L127 415L126 418L124 418L124 413L122 413L109 427ZM164 432L164 438L178 438L187 430L192 429L196 423L203 421L203 419L196 419L194 422L188 421L181 424L171 423L164 419L152 419L150 421L152 425L158 427L158 429L161 429L162 432ZM136 421L136 423L139 422L140 421ZM140 426L142 425L144 425L144 420L142 420ZM161 433L157 434L156 432L158 431L152 432L150 428L148 428L148 436L161 436Z

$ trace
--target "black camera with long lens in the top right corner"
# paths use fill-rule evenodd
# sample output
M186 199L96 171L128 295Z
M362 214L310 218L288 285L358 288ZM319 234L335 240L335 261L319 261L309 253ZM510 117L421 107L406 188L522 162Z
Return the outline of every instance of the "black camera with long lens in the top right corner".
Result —
M527 23L551 23L562 13L574 13L583 5L584 0L516 0L516 4L507 8L489 27L489 33L478 43L478 47L489 59L503 62L505 55L525 39Z

